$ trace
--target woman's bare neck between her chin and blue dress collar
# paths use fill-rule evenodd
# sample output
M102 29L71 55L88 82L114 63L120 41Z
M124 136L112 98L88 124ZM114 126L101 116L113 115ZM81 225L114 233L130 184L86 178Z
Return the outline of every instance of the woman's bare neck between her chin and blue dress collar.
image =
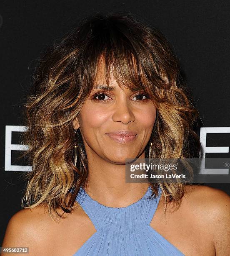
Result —
M105 161L96 154L89 154L86 192L107 207L126 207L140 200L146 193L147 183L126 183L125 164ZM140 158L144 158L143 153Z

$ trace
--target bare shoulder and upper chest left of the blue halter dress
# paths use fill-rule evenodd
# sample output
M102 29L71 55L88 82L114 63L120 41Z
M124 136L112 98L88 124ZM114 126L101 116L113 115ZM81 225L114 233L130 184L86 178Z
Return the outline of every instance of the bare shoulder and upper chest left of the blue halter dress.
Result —
M85 236L95 232L86 213L77 203L75 206L71 214L57 209L65 217L55 218L57 221L50 218L45 206L18 211L7 225L2 247L29 247L33 256L72 255L87 240Z

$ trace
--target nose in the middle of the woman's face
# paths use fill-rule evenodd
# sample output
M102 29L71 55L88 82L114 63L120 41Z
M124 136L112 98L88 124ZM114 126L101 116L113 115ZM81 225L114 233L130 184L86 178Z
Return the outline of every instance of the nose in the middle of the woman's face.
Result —
M122 122L128 124L131 121L135 121L135 115L132 106L126 100L120 100L115 104L115 109L112 115L114 122Z

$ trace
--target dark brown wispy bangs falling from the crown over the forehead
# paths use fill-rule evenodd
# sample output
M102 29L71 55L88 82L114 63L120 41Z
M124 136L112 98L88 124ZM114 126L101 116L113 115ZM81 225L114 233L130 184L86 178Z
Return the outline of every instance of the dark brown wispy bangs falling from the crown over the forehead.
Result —
M171 86L170 64L163 46L156 44L153 31L143 26L125 26L122 19L91 20L90 38L81 51L83 76L92 91L99 67L103 67L107 86L112 73L121 89L142 90L155 98L156 87ZM155 35L156 36L156 35ZM167 47L165 47L167 48Z

